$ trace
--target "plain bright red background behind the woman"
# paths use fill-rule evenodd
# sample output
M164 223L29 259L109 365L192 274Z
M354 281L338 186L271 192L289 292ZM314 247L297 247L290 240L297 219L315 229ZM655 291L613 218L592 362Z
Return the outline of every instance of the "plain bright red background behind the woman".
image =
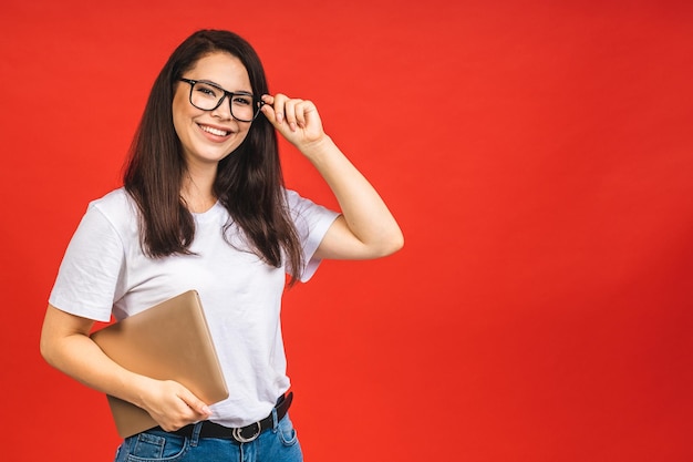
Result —
M285 299L308 461L692 460L692 24L687 0L6 0L2 460L113 458L105 399L41 360L41 320L199 28L313 100L405 233Z

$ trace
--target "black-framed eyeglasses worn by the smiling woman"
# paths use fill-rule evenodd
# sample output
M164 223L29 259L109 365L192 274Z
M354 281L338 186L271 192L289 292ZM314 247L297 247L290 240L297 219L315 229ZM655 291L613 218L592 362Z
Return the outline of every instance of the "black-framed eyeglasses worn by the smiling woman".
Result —
M203 111L214 111L228 96L231 116L240 122L252 122L265 104L262 100L248 92L229 92L216 83L201 80L180 79L190 84L190 104Z

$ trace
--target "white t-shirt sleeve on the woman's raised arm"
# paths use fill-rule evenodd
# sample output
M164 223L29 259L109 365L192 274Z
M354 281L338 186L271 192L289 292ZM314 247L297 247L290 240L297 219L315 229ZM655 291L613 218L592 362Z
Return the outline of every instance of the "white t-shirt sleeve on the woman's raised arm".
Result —
M299 279L301 283L306 283L320 266L321 260L313 256L328 229L340 214L301 197L293 191L287 191L287 203L303 249L304 263L299 273ZM291 268L289 268L289 273L294 274Z

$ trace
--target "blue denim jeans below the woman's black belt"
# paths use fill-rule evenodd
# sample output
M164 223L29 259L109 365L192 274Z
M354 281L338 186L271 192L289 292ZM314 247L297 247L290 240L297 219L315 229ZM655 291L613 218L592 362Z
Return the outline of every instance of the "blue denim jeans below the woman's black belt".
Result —
M126 438L115 462L302 462L303 454L289 414L249 443L230 439L199 438L198 423L190 438L149 430Z

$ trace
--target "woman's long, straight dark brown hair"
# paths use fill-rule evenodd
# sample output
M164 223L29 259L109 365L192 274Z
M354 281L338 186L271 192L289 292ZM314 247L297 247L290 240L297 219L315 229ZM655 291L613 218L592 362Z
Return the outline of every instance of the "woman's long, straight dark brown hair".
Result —
M259 57L232 32L201 30L173 52L149 93L123 178L139 209L143 250L152 258L190 254L195 220L180 197L187 167L173 125L173 96L185 72L219 51L246 66L255 95L269 93ZM293 284L300 276L302 253L285 196L277 134L261 113L241 145L219 162L214 193L258 257L280 267L286 255ZM231 224L220 230L225 238Z

